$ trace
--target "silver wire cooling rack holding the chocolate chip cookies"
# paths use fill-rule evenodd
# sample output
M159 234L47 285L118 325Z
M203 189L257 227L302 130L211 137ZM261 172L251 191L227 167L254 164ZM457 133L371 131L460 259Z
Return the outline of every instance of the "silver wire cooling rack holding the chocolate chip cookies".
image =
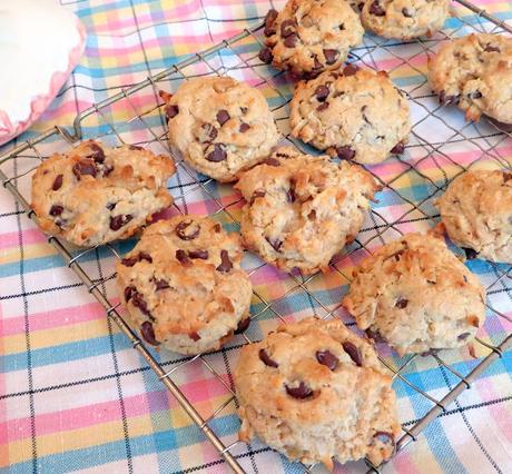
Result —
M484 10L457 0L453 3L453 18L445 29L431 38L414 42L384 41L366 34L364 46L352 51L349 60L375 69L385 69L408 97L413 116L411 141L402 157L394 157L384 164L367 167L383 186L380 203L373 206L357 239L331 264L331 273L304 277L301 274L283 275L255 256L247 255L244 267L254 283L252 325L242 336L237 336L224 349L195 357L171 358L173 354L159 354L147 349L122 317L122 309L116 296L114 261L119 258L129 243L77 250L55 237L48 241L63 257L67 265L87 286L89 293L105 307L107 316L120 327L134 347L155 371L163 384L176 397L180 406L197 424L198 428L218 450L224 461L237 473L243 473L238 464L242 456L254 447L242 442L225 440L216 433L215 421L223 413L234 413L236 396L233 381L226 379L218 369L216 358L235 362L240 346L256 340L278 322L287 322L312 313L319 318L339 317L354 330L354 323L339 305L351 282L352 267L372 249L398 238L407 231L432 227L439 218L433 200L439 197L450 181L472 167L510 169L506 158L512 155L510 131L500 130L482 120L480 124L464 121L462 112L439 105L426 80L426 59L450 38L470 32L512 33L512 28L499 21ZM288 101L293 92L289 78L258 59L262 46L262 26L246 29L242 33L223 41L206 51L173 66L145 81L122 89L121 92L104 100L80 113L68 128L55 127L39 137L26 141L14 150L0 157L0 180L14 198L36 220L30 210L30 178L32 171L52 152L62 151L70 145L88 138L98 138L109 145L122 142L142 145L156 152L170 152L167 145L167 128L159 91L173 92L191 77L207 75L229 75L262 90L268 100L283 140L306 149L288 136ZM308 151L312 151L308 149ZM175 157L176 158L176 157ZM219 185L198 175L179 158L178 172L169 182L175 198L173 213L209 214L228 228L237 228L243 205L238 194L230 186ZM459 251L453 248L454 251ZM91 255L99 255L99 268L90 265ZM488 289L486 320L511 322L512 298L508 292L511 267L492 263L472 263ZM108 275L108 276L105 276ZM277 287L267 282L278 280ZM498 292L505 288L506 292ZM501 299L490 295L500 293ZM510 327L510 326L509 326ZM485 371L512 343L510 330L496 330L484 338L476 338L470 350L451 350L427 356L413 355L398 358L388 348L377 346L380 359L391 371L394 388L408 394L421 407L417 421L407 421L410 413L398 412L403 419L403 435L396 444L398 453L417 436L437 415ZM476 357L476 353L479 357ZM226 397L210 413L199 411L187 399L179 387L179 373L187 371L194 361L200 361L221 383ZM475 362L476 361L476 362ZM465 362L465 364L460 364ZM474 363L472 363L474 362ZM455 366L457 368L455 368ZM414 382L414 367L432 368L446 382L444 393L432 395L429 387ZM462 367L462 368L460 368ZM410 371L413 372L410 372ZM422 385L422 386L420 386ZM277 456L277 454L276 454ZM366 461L370 471L378 471ZM315 466L304 466L306 472Z

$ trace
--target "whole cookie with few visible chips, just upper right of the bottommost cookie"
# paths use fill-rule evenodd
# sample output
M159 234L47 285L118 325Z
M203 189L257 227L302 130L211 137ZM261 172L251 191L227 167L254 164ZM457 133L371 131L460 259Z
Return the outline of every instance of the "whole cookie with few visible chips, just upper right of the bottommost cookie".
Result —
M466 345L483 324L484 299L442 238L407 234L363 260L343 305L361 329L404 355Z

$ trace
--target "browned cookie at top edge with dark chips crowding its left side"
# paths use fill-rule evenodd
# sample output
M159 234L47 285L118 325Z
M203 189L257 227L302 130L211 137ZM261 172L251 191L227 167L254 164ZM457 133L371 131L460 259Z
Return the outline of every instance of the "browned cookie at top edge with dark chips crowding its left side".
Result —
M364 30L345 0L289 0L280 12L267 13L264 33L259 59L311 78L337 69L361 45Z

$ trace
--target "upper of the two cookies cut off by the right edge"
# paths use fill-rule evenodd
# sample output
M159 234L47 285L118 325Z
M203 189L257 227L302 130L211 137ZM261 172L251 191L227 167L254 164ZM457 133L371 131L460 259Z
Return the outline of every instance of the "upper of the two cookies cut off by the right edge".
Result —
M512 39L469 34L444 43L429 61L429 80L442 103L455 103L467 120L482 115L512 124Z

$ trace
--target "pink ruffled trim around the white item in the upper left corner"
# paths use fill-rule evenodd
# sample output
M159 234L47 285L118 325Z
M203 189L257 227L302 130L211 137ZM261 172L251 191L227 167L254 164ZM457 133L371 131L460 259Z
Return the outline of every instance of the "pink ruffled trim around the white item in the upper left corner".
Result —
M50 102L56 98L60 88L68 80L68 77L71 75L71 71L80 60L86 47L86 28L78 18L77 28L80 33L80 41L69 53L68 69L65 72L53 72L50 81L50 90L48 93L41 93L32 99L29 117L23 121L12 124L7 112L4 110L0 110L0 145L7 144L9 140L12 140L14 137L27 130L48 108Z

